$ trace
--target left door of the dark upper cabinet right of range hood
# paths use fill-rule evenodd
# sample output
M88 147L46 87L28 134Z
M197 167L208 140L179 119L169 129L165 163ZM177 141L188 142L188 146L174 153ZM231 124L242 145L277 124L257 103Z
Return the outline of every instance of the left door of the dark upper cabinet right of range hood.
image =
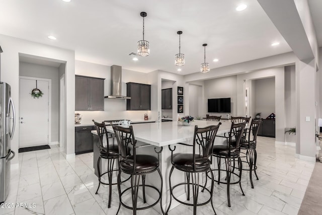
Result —
M131 99L126 100L126 110L140 110L140 84L127 83L126 95Z

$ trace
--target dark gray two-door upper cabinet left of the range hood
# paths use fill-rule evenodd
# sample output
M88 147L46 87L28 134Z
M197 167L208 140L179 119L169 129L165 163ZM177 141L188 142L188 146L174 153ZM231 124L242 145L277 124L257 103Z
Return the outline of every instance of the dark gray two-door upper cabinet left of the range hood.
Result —
M75 110L104 110L104 79L75 76Z

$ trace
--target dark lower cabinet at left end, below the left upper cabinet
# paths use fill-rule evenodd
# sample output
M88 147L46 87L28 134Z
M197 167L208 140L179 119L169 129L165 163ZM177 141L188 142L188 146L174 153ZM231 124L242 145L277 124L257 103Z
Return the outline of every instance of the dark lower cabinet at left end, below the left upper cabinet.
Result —
M75 127L75 154L93 152L93 126L78 126Z

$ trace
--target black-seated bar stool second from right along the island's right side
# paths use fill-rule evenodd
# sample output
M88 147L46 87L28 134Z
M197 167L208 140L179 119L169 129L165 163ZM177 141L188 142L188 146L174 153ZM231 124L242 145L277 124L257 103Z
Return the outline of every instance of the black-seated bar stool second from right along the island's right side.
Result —
M217 165L218 169L213 169L212 171L218 171L218 180L214 180L215 182L227 184L227 200L228 200L228 207L230 207L230 192L229 187L230 184L237 184L239 183L241 192L243 195L245 195L243 188L241 188L241 171L243 170L243 165L240 160L240 140L244 133L246 122L240 122L240 123L234 123L231 122L230 131L228 132L228 136L220 136L226 138L226 145L214 145L212 156L217 158ZM219 135L218 135L219 136ZM232 137L235 137L235 139L232 139ZM235 146L232 146L232 142L235 141ZM220 169L221 164L221 158L225 159L225 166L226 170ZM235 159L238 160L238 169L239 169L239 175L234 173L234 161ZM232 165L233 163L233 165ZM233 169L231 169L233 166ZM226 182L220 180L220 171L226 172ZM230 182L231 174L234 174L238 176L238 180L234 182Z

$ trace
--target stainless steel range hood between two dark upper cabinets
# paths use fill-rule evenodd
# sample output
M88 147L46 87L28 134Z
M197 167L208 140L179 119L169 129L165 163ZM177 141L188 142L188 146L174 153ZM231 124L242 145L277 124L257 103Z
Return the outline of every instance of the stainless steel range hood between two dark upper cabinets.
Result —
M111 66L111 95L105 96L108 99L131 99L131 97L122 96L122 66Z

